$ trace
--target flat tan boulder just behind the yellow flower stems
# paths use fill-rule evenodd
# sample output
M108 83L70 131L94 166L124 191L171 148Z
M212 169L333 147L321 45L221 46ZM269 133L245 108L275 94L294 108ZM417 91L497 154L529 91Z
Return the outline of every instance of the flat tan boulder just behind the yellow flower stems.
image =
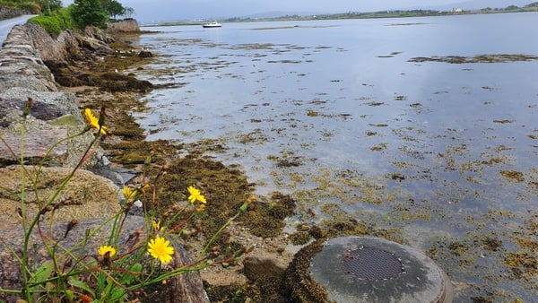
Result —
M39 212L38 201L49 201L73 170L59 167L39 169L36 166L25 166L23 169L24 200L29 217ZM0 169L0 184L0 229L20 226L22 167L13 165ZM37 191L34 190L36 188ZM108 218L119 212L119 188L108 178L80 169L53 203L61 205L54 212L55 221ZM47 212L43 219L48 220L51 214Z

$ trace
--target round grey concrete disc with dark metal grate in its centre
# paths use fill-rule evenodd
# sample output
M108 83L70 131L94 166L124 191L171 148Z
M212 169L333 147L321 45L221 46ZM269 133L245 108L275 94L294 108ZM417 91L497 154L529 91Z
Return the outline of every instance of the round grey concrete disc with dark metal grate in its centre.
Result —
M384 238L332 238L310 265L311 278L329 301L452 301L447 275L428 256Z

